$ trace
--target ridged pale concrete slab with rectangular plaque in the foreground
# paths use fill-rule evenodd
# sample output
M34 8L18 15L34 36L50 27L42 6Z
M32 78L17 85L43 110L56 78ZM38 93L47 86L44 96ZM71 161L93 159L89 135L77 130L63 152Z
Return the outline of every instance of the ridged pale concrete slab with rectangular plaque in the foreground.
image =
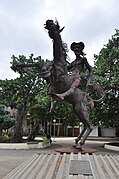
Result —
M4 179L118 179L119 156L36 154Z

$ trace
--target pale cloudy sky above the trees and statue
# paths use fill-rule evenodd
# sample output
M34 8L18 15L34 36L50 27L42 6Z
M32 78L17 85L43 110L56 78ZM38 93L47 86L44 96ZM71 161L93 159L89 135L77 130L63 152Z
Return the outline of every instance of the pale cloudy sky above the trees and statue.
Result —
M44 29L46 20L65 26L62 40L70 50L72 42L84 42L84 52L91 66L94 54L108 43L119 28L119 0L0 0L0 79L18 75L10 68L12 55L31 53L53 59L52 40Z

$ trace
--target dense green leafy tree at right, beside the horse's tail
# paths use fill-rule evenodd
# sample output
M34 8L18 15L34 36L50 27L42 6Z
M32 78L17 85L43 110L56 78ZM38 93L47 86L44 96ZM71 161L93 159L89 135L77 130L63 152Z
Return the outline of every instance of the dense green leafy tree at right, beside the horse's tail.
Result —
M93 112L95 121L104 126L119 128L119 30L95 55L94 73L106 92L106 99ZM96 118L98 120L96 120Z

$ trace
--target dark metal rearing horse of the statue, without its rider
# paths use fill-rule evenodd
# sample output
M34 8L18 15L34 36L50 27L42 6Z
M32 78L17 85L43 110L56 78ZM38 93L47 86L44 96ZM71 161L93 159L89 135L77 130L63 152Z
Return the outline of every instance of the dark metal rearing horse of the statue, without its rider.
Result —
M85 92L82 92L77 87L77 79L79 77L78 72L75 71L75 81L71 79L68 74L66 56L64 55L63 44L60 35L60 32L63 30L63 28L60 29L58 22L54 23L53 20L47 20L45 29L48 30L49 37L53 40L54 59L49 76L48 73L44 73L43 75L45 76L47 74L47 77L49 77L50 95L53 98L57 98L58 94L64 94L63 99L72 104L74 112L79 117L80 121L84 124L83 130L77 136L75 139L75 144L73 145L74 147L81 149L81 146L84 145L87 137L93 129L89 121L89 113L94 107L94 101L90 96L88 96Z

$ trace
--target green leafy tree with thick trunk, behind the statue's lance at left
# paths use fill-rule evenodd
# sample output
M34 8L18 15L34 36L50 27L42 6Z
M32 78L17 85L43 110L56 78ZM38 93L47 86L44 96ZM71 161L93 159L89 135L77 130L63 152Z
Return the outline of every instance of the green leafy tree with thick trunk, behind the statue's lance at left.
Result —
M14 68L16 64L34 64L36 68ZM26 118L30 102L35 95L42 90L43 80L40 77L40 66L44 63L41 57L34 58L33 54L29 58L21 55L19 57L12 56L12 69L20 74L17 80L16 103L18 115L15 123L14 142L22 141L22 123ZM15 97L15 96L14 96Z

